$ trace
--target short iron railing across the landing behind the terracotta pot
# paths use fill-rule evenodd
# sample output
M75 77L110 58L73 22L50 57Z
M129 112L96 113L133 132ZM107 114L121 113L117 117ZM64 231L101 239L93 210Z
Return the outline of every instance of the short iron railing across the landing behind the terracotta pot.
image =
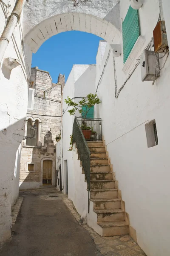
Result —
M82 118L77 117L80 127L85 124L88 129L91 129L91 137L89 141L102 141L102 119L101 118Z

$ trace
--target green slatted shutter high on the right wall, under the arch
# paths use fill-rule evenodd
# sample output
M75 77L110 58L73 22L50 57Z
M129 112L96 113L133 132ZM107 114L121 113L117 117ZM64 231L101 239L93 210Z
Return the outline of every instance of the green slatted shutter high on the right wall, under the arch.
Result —
M127 11L125 20L122 23L123 34L123 62L125 63L131 50L133 49L136 40L139 37L139 16L138 10L133 9L131 6Z

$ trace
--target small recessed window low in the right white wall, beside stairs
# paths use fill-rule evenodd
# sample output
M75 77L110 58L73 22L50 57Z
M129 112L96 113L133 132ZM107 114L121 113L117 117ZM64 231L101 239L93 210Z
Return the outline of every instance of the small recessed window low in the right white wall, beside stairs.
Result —
M145 125L147 147L151 148L158 145L158 134L155 119Z

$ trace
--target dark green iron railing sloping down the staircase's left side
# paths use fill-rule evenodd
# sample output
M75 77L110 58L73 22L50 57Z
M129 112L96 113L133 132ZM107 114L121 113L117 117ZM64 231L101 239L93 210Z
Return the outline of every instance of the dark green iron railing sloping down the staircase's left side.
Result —
M90 204L90 155L91 152L88 148L85 137L82 134L82 129L80 127L79 121L75 116L73 124L73 143L76 143L77 151L82 162L82 167L85 172L85 180L88 183L88 212Z

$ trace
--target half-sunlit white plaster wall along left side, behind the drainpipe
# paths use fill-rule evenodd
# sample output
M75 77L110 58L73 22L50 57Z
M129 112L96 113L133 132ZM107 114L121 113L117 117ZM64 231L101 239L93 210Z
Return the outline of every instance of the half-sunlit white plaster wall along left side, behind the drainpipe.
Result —
M7 2L7 1L5 1ZM8 1L7 15L11 14L15 1ZM11 6L10 6L11 5ZM5 27L5 17L0 6L0 35ZM21 61L23 52L21 25L17 24L14 30L16 44L10 40L4 58L17 58ZM11 205L18 196L18 174L20 163L20 143L23 139L24 119L28 102L28 84L23 65L11 71L0 65L0 241L8 239L11 235ZM5 130L4 130L5 129ZM17 153L18 151L18 153ZM17 154L16 154L17 153Z

